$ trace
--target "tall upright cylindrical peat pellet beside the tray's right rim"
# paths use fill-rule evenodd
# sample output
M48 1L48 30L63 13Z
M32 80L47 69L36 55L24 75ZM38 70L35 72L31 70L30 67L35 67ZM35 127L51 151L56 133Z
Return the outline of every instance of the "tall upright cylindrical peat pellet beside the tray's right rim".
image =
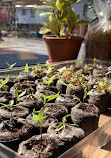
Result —
M71 109L71 118L87 136L98 128L99 109L95 105L79 103Z

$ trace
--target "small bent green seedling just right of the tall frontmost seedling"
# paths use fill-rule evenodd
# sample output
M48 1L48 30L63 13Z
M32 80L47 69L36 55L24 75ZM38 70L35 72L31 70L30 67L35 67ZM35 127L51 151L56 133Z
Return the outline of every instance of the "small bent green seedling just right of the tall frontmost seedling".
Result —
M67 114L66 116L64 116L63 118L62 118L62 123L60 123L59 125L58 125L58 127L55 129L56 130L56 132L58 132L58 131L60 131L60 130L62 130L62 129L66 129L66 118L67 117L69 117L69 116L71 116L71 114Z

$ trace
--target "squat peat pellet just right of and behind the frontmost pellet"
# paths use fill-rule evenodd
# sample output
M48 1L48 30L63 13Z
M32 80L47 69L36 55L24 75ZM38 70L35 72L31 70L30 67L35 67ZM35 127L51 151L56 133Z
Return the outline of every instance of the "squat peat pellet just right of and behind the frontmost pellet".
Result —
M56 132L56 128L59 125L58 123L52 123L48 128L48 133L51 137L56 139L59 138L64 143L64 148L60 148L61 152L65 152L70 147L75 145L78 141L84 138L85 133L81 128L78 128L74 124L67 124L65 123L65 129L61 129L60 131Z

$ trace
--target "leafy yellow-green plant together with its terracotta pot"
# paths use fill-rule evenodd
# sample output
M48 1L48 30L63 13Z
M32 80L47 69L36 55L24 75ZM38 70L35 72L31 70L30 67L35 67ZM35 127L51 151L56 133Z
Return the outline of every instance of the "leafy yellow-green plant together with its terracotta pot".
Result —
M76 59L83 38L72 36L73 31L77 25L87 24L88 20L80 20L80 15L75 14L71 5L81 0L41 1L44 5L37 8L44 10L40 16L48 16L48 20L43 23L45 27L42 27L39 33L53 33L51 36L43 37L46 42L50 63Z

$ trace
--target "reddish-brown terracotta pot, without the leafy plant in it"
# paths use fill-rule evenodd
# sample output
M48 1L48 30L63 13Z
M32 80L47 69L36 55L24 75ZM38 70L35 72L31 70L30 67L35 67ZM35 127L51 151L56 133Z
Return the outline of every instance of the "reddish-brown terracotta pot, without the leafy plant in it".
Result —
M81 37L65 39L44 36L43 39L46 42L50 63L76 59L83 41Z

